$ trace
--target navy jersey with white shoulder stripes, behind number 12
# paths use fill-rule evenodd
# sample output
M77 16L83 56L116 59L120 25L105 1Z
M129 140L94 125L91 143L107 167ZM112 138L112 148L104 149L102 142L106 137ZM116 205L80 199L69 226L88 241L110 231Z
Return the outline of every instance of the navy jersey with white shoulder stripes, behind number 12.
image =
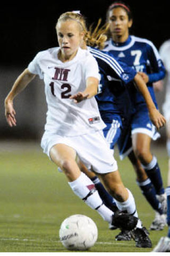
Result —
M111 54L106 54L106 52L95 48L90 48L90 52L98 62L101 75L98 94L95 96L101 118L107 122L109 120L112 122L113 114L120 114L122 118L128 118L132 110L126 87L134 87L132 80L137 72L125 63L118 62Z

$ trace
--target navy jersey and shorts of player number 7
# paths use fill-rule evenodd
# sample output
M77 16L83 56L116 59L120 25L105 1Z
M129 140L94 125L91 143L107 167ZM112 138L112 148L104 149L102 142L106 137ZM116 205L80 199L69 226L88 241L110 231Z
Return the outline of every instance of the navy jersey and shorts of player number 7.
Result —
M149 82L147 83L148 90L157 107L152 82L165 77L165 68L154 44L147 39L129 36L123 43L114 43L112 39L108 40L104 51L113 54L118 60L126 63L135 71L147 73L149 77ZM130 125L128 125L127 129L123 130L117 142L122 159L132 150L131 133L143 133L152 139L159 137L154 125L150 121L143 96L135 87L129 87L128 91L134 106L134 113Z

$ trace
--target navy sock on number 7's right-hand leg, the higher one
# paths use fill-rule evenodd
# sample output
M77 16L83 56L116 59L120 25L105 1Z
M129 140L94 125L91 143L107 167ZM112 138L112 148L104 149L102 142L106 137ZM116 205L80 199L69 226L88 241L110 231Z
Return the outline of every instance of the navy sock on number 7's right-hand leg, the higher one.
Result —
M143 166L143 164L142 164ZM156 194L161 195L164 194L164 186L163 186L163 179L160 173L160 168L157 163L157 159L153 156L151 162L147 166L143 166L146 171L146 174L150 178L152 184L155 187Z

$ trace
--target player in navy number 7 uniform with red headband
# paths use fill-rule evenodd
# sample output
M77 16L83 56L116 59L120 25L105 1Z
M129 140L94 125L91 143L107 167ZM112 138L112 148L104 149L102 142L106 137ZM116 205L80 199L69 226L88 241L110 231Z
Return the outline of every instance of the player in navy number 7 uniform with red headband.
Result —
M129 35L132 13L124 2L117 1L109 6L107 21L109 39L104 51L113 54L139 73L158 108L152 82L164 78L165 68L156 47L147 39ZM129 135L124 130L124 135L118 140L118 147L122 159L128 155L137 174L137 184L156 212L150 229L162 230L166 225L166 195L156 156L150 151L151 139L156 140L160 135L150 121L142 95L134 87L129 87L129 95L134 106L131 130ZM129 237L121 233L117 240L129 240Z

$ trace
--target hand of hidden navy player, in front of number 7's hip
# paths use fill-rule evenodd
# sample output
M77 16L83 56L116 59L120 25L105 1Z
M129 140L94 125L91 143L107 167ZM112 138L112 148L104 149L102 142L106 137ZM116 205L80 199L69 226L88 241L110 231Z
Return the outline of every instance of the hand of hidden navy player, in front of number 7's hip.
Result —
M157 109L152 109L149 112L149 117L158 130L165 126L166 119Z

